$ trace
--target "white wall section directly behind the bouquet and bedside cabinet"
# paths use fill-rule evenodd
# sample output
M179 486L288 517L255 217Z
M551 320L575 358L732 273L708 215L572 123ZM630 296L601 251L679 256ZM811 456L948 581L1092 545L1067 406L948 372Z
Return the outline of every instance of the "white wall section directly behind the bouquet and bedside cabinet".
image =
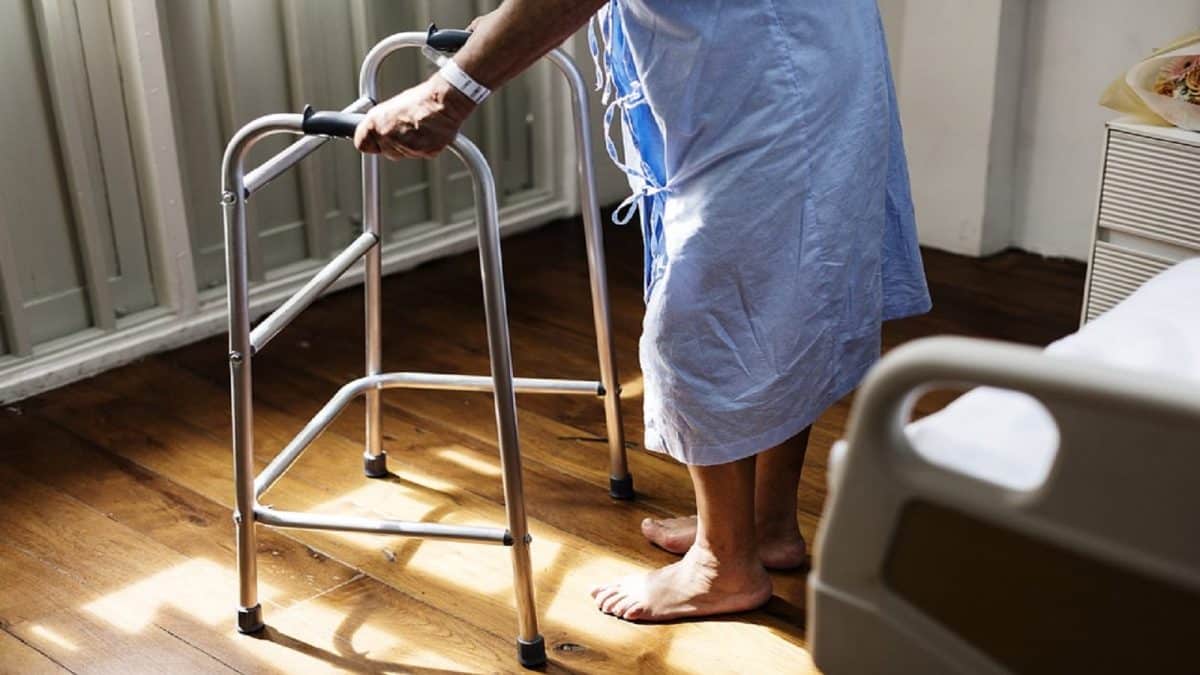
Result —
M1016 149L1013 245L1087 255L1112 78L1200 28L1200 0L1032 0Z

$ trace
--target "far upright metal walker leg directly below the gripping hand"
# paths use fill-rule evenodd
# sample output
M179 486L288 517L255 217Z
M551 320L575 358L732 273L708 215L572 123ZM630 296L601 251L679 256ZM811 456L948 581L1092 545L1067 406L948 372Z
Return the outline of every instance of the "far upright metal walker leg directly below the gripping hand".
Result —
M379 221L379 157L362 156L362 231L376 235L379 241L366 253L364 305L366 307L366 371L382 372L380 291L383 285L382 251L383 228ZM388 476L388 455L383 449L383 418L380 416L379 389L368 389L366 396L366 449L362 453L362 472L368 478Z

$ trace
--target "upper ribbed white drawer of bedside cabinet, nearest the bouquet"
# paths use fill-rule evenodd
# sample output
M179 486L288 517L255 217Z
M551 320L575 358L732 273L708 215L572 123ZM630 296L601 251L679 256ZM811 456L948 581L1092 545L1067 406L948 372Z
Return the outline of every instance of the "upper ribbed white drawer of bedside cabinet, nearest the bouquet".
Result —
M1099 226L1200 250L1200 148L1112 130Z

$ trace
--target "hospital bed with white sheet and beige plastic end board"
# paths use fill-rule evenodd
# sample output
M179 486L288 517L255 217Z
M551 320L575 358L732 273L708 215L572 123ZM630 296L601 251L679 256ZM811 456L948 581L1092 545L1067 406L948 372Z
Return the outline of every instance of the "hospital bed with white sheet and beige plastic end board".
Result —
M824 673L1200 671L1200 259L1044 352L889 353L829 483L808 602Z

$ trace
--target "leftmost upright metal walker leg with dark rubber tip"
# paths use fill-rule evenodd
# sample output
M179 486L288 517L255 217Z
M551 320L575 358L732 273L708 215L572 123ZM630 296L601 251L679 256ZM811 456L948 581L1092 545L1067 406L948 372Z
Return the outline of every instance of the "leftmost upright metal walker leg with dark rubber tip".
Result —
M229 295L229 383L233 418L233 520L238 536L238 631L263 629L258 603L258 542L254 532L254 434L251 381L250 299L246 270L246 211L241 190L222 195Z

